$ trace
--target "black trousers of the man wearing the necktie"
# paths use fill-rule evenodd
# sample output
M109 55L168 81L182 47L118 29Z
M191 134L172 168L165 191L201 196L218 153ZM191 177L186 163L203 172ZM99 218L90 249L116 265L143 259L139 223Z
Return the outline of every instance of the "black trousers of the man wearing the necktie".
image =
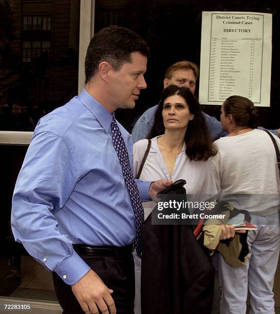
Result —
M93 256L79 254L80 257L102 279L104 284L114 290L112 297L118 314L134 314L135 276L132 253L118 256ZM63 314L83 313L70 285L64 283L53 272L55 292Z

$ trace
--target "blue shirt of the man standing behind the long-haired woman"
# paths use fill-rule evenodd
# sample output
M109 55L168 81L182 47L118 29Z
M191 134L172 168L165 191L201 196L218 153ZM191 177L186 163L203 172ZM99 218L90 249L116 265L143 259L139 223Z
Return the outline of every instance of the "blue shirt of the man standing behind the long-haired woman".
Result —
M136 143L139 140L145 139L150 130L152 129L155 122L155 113L158 109L158 105L147 109L137 120L133 130L132 130L132 141ZM212 141L216 141L223 136L226 136L228 132L222 129L221 122L216 119L216 117L210 116L204 112L203 116L210 132ZM264 128L259 127L259 129L264 130ZM278 130L270 130L273 134L278 136Z

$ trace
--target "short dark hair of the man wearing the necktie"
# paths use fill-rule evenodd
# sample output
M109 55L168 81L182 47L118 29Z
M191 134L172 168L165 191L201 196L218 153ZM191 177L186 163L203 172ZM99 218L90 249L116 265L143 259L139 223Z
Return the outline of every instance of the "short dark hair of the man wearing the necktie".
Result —
M123 63L131 62L131 53L136 51L149 57L146 42L134 31L119 26L101 29L93 36L85 56L85 84L94 76L101 62L110 63L117 71Z

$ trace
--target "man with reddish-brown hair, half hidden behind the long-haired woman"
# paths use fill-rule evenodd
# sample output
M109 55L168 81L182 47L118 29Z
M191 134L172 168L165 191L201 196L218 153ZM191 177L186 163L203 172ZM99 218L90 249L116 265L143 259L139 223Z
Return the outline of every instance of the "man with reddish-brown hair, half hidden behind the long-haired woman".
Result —
M164 74L163 87L173 84L179 87L188 87L192 93L195 93L196 81L199 76L199 69L195 63L190 61L181 61L171 65ZM158 105L147 109L137 120L132 130L132 141L136 143L139 140L145 139L149 131L152 129L155 121L155 113ZM222 129L221 122L216 117L210 116L203 112L203 116L210 132L212 141L226 136L228 132ZM260 129L264 129L260 127ZM280 129L270 130L275 135L279 136ZM280 136L279 136L280 137Z

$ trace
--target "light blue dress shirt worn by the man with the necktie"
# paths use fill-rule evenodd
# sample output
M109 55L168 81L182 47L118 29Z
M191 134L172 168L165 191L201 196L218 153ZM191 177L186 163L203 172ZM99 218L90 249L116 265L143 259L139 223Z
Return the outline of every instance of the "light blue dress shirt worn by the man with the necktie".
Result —
M135 216L113 146L112 114L85 90L39 121L12 201L15 240L67 284L90 267L72 244L125 246ZM118 124L132 163L131 135ZM141 199L150 182L136 180Z

